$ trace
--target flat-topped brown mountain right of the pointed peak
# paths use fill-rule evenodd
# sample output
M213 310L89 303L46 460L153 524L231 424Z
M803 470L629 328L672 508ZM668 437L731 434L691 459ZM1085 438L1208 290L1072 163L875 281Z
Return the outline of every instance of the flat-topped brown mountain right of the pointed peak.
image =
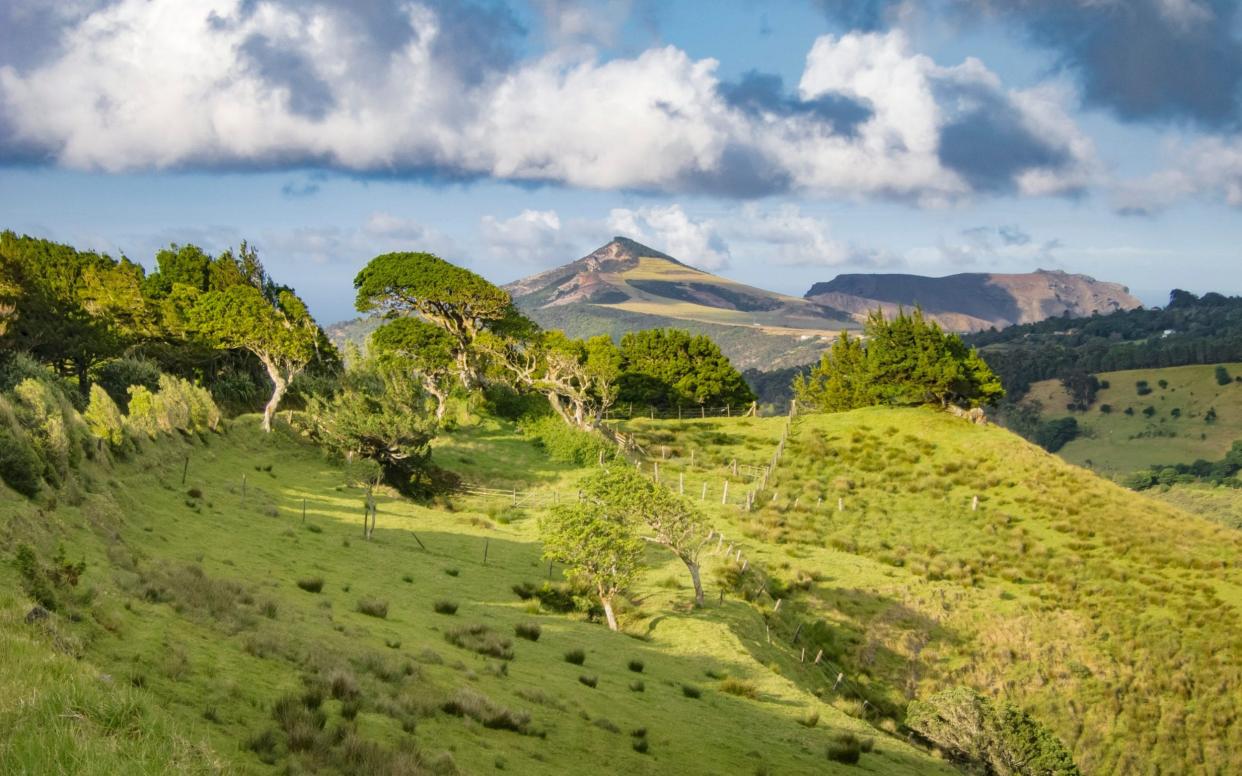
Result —
M966 272L943 278L918 274L838 274L816 283L806 299L862 319L877 307L919 305L941 327L979 332L1046 318L1113 313L1141 307L1124 286L1086 274L1037 269L1021 274Z

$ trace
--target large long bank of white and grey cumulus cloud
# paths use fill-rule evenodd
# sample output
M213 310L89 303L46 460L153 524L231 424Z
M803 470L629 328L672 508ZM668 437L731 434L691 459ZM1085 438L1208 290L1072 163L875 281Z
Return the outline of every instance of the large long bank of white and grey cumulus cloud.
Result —
M1006 91L974 60L941 68L897 31L821 37L785 93L763 73L723 83L671 46L519 58L525 31L494 2L112 0L41 29L41 56L0 53L9 161L930 202L1063 194L1092 164L1063 96Z

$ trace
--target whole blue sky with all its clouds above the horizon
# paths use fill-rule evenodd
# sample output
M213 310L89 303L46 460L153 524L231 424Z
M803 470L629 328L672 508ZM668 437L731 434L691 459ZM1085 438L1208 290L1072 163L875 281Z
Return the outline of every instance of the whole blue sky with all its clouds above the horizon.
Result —
M1237 0L0 0L0 228L255 245L323 322L430 251L623 235L795 296L1064 269L1242 293Z

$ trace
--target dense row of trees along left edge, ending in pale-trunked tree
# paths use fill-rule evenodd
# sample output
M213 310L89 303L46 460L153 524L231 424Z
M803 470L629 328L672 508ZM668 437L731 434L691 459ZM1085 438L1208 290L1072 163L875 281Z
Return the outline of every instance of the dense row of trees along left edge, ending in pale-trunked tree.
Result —
M0 233L0 346L71 377L83 401L99 369L122 358L209 387L224 375L266 374L268 430L294 377L312 364L339 365L306 304L247 243L215 257L174 245L155 266L148 274L125 257Z

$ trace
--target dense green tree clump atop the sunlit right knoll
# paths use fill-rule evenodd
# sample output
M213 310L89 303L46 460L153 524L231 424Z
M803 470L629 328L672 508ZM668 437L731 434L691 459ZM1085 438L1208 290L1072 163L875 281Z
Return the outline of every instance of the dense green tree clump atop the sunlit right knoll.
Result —
M874 312L864 334L866 345L842 333L810 375L795 379L800 404L826 412L871 405L979 407L1005 396L979 353L919 309L892 320Z

